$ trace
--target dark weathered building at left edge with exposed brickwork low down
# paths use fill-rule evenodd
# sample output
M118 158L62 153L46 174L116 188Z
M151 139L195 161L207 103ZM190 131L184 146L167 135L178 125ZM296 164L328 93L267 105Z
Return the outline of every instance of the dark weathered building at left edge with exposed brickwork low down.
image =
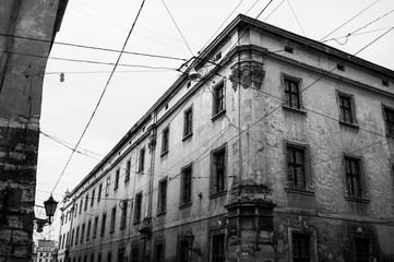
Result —
M0 2L0 261L32 258L43 80L67 2Z

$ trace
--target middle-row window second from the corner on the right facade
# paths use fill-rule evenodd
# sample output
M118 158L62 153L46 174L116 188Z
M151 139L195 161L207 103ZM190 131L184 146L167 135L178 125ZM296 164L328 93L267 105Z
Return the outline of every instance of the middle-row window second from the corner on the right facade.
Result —
M360 159L345 156L346 191L350 198L361 198Z

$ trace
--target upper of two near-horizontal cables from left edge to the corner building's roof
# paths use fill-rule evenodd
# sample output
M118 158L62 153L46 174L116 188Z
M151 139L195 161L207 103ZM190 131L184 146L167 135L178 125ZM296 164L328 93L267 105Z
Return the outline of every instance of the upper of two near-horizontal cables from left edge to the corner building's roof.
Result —
M84 48L84 49L99 50L99 51L108 51L108 52L117 52L117 53L121 52L121 50L105 48L105 47L86 46L86 45L64 43L64 41L51 41L51 40L46 40L46 39L25 37L25 36L16 36L16 35L9 35L9 34L2 34L2 33L0 33L0 36L12 37L12 38L17 38L17 39L24 39L24 40L41 41L41 43L48 43L48 44L55 44L55 45L61 45L61 46L70 46L70 47L77 47L77 48ZM143 57L151 57L151 58L160 58L160 59L171 59L171 60L178 60L178 61L187 61L187 59L183 59L183 58L154 55L154 53L145 53L145 52L123 51L123 53L126 53L126 55L134 55L134 56L143 56Z

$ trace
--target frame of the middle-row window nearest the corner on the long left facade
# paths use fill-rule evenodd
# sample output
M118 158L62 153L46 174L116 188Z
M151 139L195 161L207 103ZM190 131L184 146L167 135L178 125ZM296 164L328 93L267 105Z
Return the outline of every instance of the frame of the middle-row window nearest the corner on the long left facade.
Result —
M218 187L217 186L217 180L219 180L218 178L218 168L217 168L217 158L218 155L223 154L223 186ZM217 148L215 148L214 151L211 152L211 184L210 184L210 191L211 191L211 196L215 196L216 194L220 194L225 193L227 191L227 144L224 144Z

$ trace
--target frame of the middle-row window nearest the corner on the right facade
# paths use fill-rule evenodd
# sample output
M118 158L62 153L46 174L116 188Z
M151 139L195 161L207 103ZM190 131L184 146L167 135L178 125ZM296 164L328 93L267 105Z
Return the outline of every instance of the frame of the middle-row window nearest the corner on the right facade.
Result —
M289 180L289 147L292 150L297 150L297 151L302 151L303 152L303 184L302 188L297 187L296 184L294 184L294 177L292 177L292 181ZM286 191L290 191L290 192L312 192L312 174L311 174L311 167L310 167L310 148L308 144L301 144L301 143L297 143L297 142L292 142L292 141L285 141L285 166L286 166ZM297 165L297 163L295 163L294 165ZM297 175L294 175L296 176Z

